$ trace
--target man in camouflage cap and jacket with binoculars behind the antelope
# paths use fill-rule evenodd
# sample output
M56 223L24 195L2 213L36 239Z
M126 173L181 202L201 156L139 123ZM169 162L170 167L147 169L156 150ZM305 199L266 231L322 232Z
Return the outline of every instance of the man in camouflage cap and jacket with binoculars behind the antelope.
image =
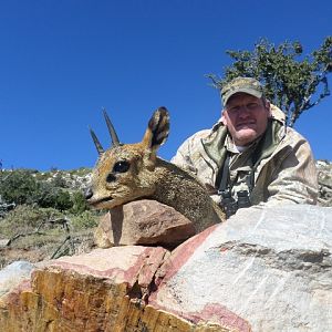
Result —
M309 143L286 127L284 114L255 79L221 90L221 120L189 137L172 162L194 173L229 217L238 208L317 204L318 178Z

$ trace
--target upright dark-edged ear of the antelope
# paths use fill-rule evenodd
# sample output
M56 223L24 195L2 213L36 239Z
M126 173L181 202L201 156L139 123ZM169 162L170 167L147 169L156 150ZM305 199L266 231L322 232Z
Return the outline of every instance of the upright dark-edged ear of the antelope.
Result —
M169 115L166 107L159 107L155 111L148 122L142 144L146 149L145 162L149 169L154 168L156 153L163 145L169 133Z

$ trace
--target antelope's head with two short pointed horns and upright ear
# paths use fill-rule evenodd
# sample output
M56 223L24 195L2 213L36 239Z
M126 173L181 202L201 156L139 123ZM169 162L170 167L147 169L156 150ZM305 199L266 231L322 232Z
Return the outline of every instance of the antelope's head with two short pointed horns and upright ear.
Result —
M142 142L136 144L121 144L105 111L104 116L113 144L104 151L91 129L100 157L85 198L97 209L112 209L138 198L149 197L155 191L156 153L167 139L169 116L165 107L156 110Z

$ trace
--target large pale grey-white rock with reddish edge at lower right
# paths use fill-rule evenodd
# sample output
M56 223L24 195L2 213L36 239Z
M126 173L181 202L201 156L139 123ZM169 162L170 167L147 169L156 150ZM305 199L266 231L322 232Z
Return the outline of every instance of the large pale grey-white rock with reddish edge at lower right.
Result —
M216 320L221 305L252 331L328 332L331 255L332 208L239 210L173 252L149 301L174 313L215 310Z

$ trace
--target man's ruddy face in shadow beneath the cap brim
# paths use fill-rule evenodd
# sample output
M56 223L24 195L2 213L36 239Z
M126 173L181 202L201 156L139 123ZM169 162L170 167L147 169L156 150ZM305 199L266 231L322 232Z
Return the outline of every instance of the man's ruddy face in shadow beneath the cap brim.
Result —
M247 93L231 96L222 112L221 121L227 126L232 141L246 146L259 137L267 128L270 103Z

